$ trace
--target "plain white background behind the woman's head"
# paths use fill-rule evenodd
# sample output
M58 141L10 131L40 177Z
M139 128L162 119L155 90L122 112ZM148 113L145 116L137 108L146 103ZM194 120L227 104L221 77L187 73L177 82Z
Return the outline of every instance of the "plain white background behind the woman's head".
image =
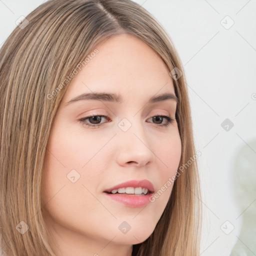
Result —
M0 0L0 46L15 21L42 2ZM136 2L167 30L184 65L196 150L202 153L201 255L230 255L242 221L233 192L234 160L244 145L256 156L256 0ZM228 29L227 15L234 22ZM226 118L234 124L228 131L220 125ZM228 235L220 228L226 220L234 226Z

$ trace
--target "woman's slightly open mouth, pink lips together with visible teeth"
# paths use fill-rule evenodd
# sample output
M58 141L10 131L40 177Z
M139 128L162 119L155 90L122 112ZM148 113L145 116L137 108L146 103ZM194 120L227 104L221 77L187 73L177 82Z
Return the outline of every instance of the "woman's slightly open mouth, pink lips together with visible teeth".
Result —
M150 202L149 197L154 192L154 187L146 179L130 180L115 185L103 192L108 198L126 206L142 207Z

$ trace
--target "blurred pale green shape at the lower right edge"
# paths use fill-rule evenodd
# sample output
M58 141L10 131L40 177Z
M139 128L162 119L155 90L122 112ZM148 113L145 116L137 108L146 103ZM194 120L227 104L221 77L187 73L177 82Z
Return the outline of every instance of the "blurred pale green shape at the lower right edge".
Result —
M238 151L233 178L242 226L230 256L256 256L256 140Z

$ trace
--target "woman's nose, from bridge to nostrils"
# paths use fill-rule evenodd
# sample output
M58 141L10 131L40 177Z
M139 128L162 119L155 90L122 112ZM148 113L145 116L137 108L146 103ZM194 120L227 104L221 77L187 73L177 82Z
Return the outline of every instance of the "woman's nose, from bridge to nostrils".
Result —
M154 161L149 134L145 134L143 124L133 121L127 131L119 130L117 134L117 163L121 166L135 165L141 167Z

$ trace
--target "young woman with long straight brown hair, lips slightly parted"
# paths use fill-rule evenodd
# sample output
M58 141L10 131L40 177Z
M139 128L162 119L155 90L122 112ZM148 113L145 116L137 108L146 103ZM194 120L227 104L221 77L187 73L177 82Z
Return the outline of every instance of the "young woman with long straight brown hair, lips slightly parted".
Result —
M0 50L5 255L199 255L182 70L130 0L49 0L26 16Z

